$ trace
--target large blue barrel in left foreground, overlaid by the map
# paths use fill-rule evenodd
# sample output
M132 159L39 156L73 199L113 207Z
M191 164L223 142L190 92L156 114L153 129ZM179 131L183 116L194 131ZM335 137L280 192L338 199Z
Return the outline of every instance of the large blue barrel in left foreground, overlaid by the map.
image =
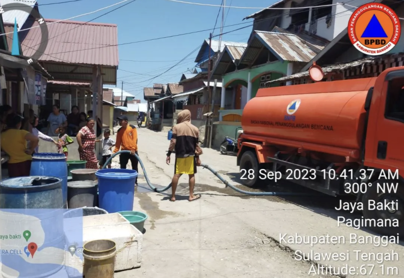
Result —
M8 268L2 268L0 277L13 277L9 268L27 278L50 277L61 270L65 253L63 204L61 178L28 176L0 181L0 234L9 237L1 242L1 262ZM32 242L37 246L33 258L27 252ZM48 263L32 263L35 255Z

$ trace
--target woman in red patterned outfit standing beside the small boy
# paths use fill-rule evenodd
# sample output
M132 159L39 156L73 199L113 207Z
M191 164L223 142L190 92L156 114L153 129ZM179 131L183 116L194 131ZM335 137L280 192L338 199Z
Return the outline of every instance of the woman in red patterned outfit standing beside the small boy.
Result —
M87 161L87 169L98 169L98 161L95 156L95 121L93 118L87 119L87 125L80 129L77 134L78 152L80 160Z

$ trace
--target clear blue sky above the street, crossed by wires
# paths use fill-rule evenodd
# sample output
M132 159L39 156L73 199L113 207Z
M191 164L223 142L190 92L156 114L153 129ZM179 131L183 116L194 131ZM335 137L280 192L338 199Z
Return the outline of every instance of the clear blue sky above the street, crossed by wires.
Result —
M38 4L55 2L63 1L38 0ZM120 0L84 0L76 3L71 2L65 4L39 6L39 10L44 18L66 19L109 6L117 2L120 2ZM187 0L187 2L199 2L216 5L221 4L221 0ZM226 0L226 6L267 7L274 2L276 1ZM125 3L120 5L123 4ZM78 17L74 20L88 21L118 6L101 10L91 15ZM109 13L108 15L96 19L94 22L117 24L118 43L121 44L213 28L218 11L219 7L215 6L200 6L171 2L167 0L137 0L124 6L123 8ZM258 11L258 9L226 8L224 25L232 25L242 22L246 23L227 28L225 27L223 32L250 25L252 23L252 19L244 21L242 21L242 19L252 13L255 13L256 11ZM220 28L220 23L221 14L219 15L217 28ZM251 31L252 27L234 31L232 33L223 35L223 40L232 42L247 42ZM163 73L168 68L178 63L178 61L183 59L187 54L189 54L189 52L202 44L204 39L208 39L209 33L209 31L205 31L174 38L119 46L120 62L118 67L117 87L121 88L121 82L123 81L124 90L137 96L137 98L140 98L143 101L143 87L153 86L153 83L167 84L168 82L179 82L182 73L187 72L187 69L194 68L194 60L197 51L189 56L187 60L183 61L164 75L150 81L145 80ZM213 35L219 33L220 29L217 29ZM132 62L123 60L154 62ZM127 71L133 73L129 73ZM130 82L130 84L126 82Z

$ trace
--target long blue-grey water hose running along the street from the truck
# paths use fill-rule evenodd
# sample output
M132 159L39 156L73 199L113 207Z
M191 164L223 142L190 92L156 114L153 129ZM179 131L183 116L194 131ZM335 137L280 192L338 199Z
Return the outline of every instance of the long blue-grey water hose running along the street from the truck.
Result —
M112 161L112 159L114 157L116 157L117 155L121 154L121 153L129 153L129 150L120 150L116 153L114 153L113 155L111 155L111 157L109 157L109 159L107 159L107 161L105 162L104 166L102 167L102 169L105 169L107 167L107 165L109 164L110 161ZM147 176L146 170L145 170L145 166L143 165L142 160L140 159L139 155L134 154L135 157L137 158L137 160L140 163L140 166L142 167L143 170L143 175L145 176L147 185L150 186L151 189L154 190L154 192L164 192L166 190L168 190L171 187L171 184L168 184L168 186L164 187L164 188L156 188L153 186L153 184L151 184L149 177ZM308 195L313 195L313 194L309 194L309 193L295 193L295 192L251 192L251 191L246 191L246 190L242 190L240 188L237 188L236 186L230 184L227 180L225 180L215 169L212 169L209 165L206 165L204 163L201 163L201 166L203 168L208 169L209 171L211 171L215 176L217 176L219 178L219 180L221 180L221 182L223 182L226 187L230 187L231 189L241 193L241 194L245 194L245 195L251 195L251 196L308 196Z

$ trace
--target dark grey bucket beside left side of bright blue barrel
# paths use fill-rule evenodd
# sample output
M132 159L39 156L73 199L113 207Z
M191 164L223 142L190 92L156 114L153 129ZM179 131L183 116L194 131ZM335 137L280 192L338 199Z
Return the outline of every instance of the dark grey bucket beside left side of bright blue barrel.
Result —
M92 180L80 180L67 183L67 207L95 207L97 205L98 183Z

